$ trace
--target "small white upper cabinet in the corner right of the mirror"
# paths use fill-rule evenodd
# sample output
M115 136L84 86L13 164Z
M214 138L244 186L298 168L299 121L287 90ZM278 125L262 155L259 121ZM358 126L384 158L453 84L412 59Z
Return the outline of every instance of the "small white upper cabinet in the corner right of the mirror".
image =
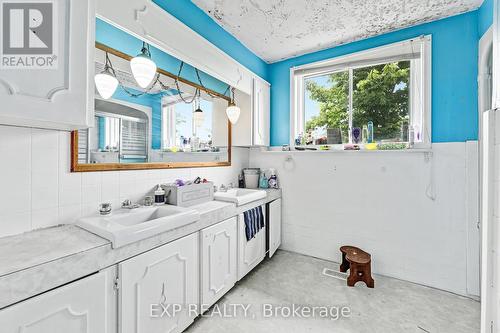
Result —
M269 146L271 127L271 86L255 77L252 95L237 91L236 104L241 109L240 119L233 126L234 146Z

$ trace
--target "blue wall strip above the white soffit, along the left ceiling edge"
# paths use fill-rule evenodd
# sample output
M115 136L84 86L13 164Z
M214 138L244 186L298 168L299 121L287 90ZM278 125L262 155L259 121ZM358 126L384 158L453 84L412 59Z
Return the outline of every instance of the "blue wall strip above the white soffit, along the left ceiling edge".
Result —
M190 0L153 0L158 6L264 79L268 65ZM200 50L203 52L203 50Z

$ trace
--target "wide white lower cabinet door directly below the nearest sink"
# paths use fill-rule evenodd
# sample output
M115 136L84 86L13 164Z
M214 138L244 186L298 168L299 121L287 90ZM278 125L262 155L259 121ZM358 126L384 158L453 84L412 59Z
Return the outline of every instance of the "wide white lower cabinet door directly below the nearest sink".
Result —
M182 332L199 304L198 234L119 264L122 333Z

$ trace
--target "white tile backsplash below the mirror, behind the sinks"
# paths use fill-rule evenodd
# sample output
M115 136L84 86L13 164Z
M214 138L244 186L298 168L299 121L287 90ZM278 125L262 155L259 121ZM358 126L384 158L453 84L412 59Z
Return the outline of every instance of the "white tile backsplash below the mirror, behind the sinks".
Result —
M119 207L178 178L235 183L249 158L234 148L231 167L70 173L69 133L9 126L0 126L0 156L0 237L74 223L101 202Z

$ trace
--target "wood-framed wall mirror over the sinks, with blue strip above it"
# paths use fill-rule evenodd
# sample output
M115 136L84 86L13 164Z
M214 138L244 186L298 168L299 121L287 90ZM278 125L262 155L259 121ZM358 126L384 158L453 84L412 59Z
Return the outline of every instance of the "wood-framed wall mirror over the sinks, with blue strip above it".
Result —
M227 84L99 19L95 73L94 126L72 133L73 172L231 165Z

